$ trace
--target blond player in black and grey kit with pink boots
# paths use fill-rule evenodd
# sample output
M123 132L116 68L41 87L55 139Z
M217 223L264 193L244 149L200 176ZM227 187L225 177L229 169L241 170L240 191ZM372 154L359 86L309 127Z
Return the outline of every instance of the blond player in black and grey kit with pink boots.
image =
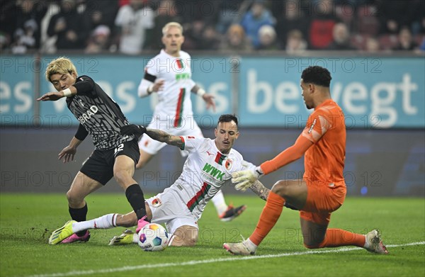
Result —
M47 65L45 77L55 86L57 92L49 92L37 100L57 101L67 97L69 111L80 123L69 145L60 152L59 159L64 162L72 161L77 147L89 134L95 146L94 152L81 167L67 192L72 220L52 232L49 244L89 240L88 231L72 234L70 237L64 237L66 232L63 231L70 230L74 222L86 220L87 203L84 198L104 186L112 177L125 190L125 196L139 220L137 229L140 230L148 222L145 197L140 186L132 178L140 157L137 145L139 137L120 135L120 128L129 125L120 107L93 79L88 76L78 77L77 69L71 60L66 57L52 60ZM116 218L112 220L115 222Z

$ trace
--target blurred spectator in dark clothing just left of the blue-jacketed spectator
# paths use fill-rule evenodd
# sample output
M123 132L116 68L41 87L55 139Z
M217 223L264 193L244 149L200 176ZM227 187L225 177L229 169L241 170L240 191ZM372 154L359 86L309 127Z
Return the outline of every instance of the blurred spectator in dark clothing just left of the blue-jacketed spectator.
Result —
M227 29L225 40L222 41L220 50L226 52L249 52L252 50L251 42L245 36L245 31L239 24L232 24Z

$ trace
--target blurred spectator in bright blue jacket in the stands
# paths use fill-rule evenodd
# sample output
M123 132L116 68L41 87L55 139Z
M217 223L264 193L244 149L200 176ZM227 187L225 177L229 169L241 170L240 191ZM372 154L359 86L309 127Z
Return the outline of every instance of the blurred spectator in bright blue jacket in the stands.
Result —
M273 26L275 19L271 12L264 6L264 1L255 0L248 12L242 18L241 26L244 28L246 36L251 40L254 48L260 45L259 30L261 26Z

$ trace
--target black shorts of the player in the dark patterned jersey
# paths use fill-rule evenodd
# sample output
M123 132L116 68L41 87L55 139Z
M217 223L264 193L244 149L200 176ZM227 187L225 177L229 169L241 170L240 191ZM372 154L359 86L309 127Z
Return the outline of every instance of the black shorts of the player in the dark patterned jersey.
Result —
M94 152L91 153L89 159L87 159L87 161L83 164L80 171L105 186L106 183L108 183L108 181L113 177L113 164L115 164L115 157L120 155L130 157L133 161L135 161L136 166L140 157L137 140L124 142L114 149L95 149Z

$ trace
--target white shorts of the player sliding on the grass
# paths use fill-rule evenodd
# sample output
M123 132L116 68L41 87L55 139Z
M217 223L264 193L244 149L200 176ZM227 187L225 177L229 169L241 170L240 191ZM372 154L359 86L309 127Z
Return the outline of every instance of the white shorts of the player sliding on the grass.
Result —
M165 223L169 234L183 225L198 227L198 219L188 210L179 196L169 189L146 200L152 211L152 223Z

